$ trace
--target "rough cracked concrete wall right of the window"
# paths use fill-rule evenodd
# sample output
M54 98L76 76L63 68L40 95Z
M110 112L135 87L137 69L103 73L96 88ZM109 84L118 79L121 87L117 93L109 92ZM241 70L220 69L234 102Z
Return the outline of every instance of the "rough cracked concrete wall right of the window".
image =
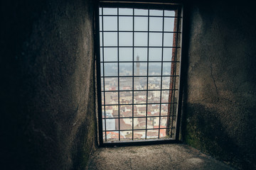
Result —
M256 14L252 6L207 1L186 8L190 28L184 139L242 169L256 169Z

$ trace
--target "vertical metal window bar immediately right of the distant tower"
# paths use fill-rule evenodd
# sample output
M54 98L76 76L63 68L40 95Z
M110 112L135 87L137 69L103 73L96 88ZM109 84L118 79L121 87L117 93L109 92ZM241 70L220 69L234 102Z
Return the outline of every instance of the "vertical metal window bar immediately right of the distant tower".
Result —
M148 42L147 42L147 62L146 62L146 131L147 131L147 108L148 108L148 96L149 96L149 8L148 8ZM147 134L147 132L146 132ZM146 139L146 135L145 135Z

